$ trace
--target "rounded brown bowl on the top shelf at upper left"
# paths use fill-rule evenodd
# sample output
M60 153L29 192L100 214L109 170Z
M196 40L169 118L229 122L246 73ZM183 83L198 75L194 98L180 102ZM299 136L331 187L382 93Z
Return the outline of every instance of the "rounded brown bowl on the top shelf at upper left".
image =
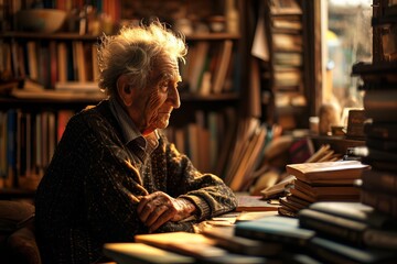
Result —
M62 28L66 12L58 9L25 9L17 14L17 29L39 33L54 33Z

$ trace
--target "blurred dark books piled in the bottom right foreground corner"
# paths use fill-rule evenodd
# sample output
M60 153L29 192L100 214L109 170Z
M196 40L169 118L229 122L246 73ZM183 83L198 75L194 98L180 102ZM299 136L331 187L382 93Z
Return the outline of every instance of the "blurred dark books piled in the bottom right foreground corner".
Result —
M314 202L299 212L299 227L313 230L309 251L331 263L396 261L397 219L362 202Z

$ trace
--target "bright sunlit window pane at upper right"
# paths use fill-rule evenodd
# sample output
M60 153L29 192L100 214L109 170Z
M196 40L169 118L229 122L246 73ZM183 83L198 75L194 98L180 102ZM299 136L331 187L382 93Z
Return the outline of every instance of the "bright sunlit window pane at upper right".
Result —
M372 62L372 0L326 0L326 8L323 99L334 98L342 109L362 107L358 78L351 72L357 62Z

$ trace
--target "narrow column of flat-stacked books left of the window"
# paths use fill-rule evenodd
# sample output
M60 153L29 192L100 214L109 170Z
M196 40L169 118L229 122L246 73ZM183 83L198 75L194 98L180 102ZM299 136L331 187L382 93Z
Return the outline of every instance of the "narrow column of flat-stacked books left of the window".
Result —
M286 130L308 128L310 98L307 38L309 26L304 1L268 1L265 6L269 45L269 87L272 116Z

